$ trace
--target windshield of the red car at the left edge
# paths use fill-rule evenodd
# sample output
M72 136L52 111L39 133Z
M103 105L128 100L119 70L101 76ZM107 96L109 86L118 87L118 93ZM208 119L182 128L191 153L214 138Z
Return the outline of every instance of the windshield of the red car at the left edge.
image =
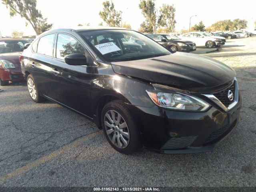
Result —
M24 40L1 40L0 41L0 53L17 52L24 50L24 44L29 43Z

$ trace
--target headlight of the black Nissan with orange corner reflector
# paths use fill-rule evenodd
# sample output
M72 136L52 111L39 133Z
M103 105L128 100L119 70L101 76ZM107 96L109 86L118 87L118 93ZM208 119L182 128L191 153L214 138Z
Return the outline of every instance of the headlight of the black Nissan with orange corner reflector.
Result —
M164 108L174 110L205 111L210 104L200 98L180 92L163 93L146 90L152 101Z

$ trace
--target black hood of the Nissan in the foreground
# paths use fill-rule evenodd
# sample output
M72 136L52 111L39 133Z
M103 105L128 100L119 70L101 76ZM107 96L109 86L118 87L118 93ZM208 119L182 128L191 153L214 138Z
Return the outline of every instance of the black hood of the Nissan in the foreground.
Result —
M118 74L186 90L207 90L229 82L236 75L234 70L222 62L182 52L111 64Z

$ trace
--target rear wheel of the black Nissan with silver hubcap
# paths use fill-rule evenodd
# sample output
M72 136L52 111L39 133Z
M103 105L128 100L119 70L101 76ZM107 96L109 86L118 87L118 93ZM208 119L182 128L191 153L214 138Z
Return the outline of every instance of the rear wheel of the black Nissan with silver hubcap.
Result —
M40 96L38 88L34 82L34 78L30 74L28 75L28 78L27 78L27 86L28 86L28 93L34 102L40 103L45 100L42 96Z

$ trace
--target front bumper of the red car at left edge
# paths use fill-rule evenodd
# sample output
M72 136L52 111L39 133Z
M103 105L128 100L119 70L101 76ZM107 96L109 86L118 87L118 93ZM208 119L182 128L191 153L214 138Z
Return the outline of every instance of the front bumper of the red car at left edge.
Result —
M0 78L3 81L21 81L24 76L20 69L17 68L0 68Z

